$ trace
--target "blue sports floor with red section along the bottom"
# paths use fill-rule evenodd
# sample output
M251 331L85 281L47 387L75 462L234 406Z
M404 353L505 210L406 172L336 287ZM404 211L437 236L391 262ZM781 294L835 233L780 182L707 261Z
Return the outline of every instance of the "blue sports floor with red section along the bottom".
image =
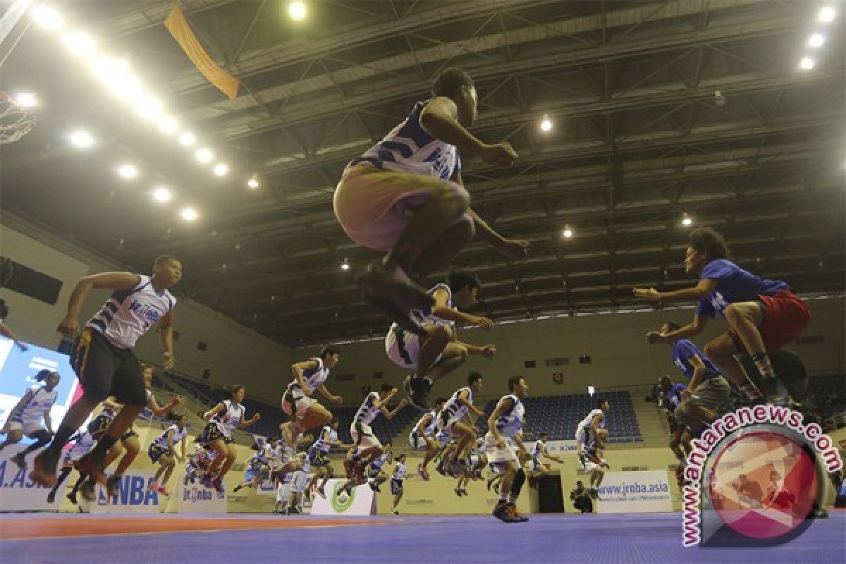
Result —
M98 562L846 562L846 512L766 549L685 549L681 515L273 517L0 516L0 561Z

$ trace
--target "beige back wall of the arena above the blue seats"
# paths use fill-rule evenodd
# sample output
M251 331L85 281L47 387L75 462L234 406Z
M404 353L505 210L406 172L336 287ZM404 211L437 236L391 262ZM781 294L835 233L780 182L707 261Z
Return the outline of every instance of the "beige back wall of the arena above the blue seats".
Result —
M794 344L791 348L805 359L811 374L846 372L843 347L846 300L811 299L808 304L813 317L805 335L822 337L821 341ZM447 395L462 386L470 370L480 370L486 376L486 395L504 393L505 381L515 374L528 378L533 396L582 393L586 386L596 386L602 392L603 387L651 385L662 374L680 380L682 376L670 360L669 347L650 346L644 336L647 331L658 329L665 320L684 323L693 315L693 309L664 309L511 323L497 325L489 332L460 330L459 339L463 341L495 344L497 357L492 360L470 357L467 364L436 384L432 397ZM726 329L725 321L717 318L694 341L703 347ZM360 398L362 386L376 389L386 381L398 384L409 374L409 370L387 359L381 340L345 344L341 350L341 361L333 373L344 375L342 378L354 376L343 381L330 378L327 385L332 392L343 395L346 402L350 402L350 397ZM294 348L291 354L297 360L316 352L316 348ZM590 356L589 363L580 362L584 355ZM569 364L547 366L547 360ZM525 368L526 361L534 361L536 367ZM374 377L376 373L381 373L382 378ZM560 384L556 374L561 375Z

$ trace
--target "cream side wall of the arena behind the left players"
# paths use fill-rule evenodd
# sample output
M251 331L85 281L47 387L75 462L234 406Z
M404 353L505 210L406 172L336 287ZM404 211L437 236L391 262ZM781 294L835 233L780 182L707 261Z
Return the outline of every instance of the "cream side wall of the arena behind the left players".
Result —
M124 266L92 254L15 216L3 214L0 225L3 255L36 271L44 272L63 282L56 304L45 304L8 289L0 290L9 304L11 313L8 326L27 342L45 348L56 348L61 336L56 327L68 305L76 282L88 274L103 271L123 271ZM167 249L162 249L166 252ZM190 276L190 264L184 265ZM80 313L80 325L102 306L109 293L93 290ZM279 395L278 373L290 372L289 349L262 337L255 331L240 326L233 320L179 296L175 310L176 331L179 340L174 342L176 369L188 375L201 377L203 371L211 372L210 381L217 383L239 382L247 386L253 397L265 397L275 402ZM200 350L198 343L206 343ZM153 364L162 363L162 344L157 332L150 331L141 337L135 354Z

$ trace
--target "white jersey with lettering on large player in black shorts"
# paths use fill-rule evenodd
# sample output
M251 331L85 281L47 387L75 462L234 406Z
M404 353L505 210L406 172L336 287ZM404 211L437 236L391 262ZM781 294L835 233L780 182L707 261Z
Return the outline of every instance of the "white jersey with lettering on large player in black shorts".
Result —
M85 324L117 348L135 347L138 337L176 307L176 298L168 290L158 293L151 277L138 277L139 282L132 289L115 290Z

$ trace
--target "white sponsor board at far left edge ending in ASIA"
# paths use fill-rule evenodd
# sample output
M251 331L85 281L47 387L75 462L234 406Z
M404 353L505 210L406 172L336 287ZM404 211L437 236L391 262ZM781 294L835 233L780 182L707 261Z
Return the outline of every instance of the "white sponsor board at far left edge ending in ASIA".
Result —
M30 480L32 459L36 451L26 457L30 468L22 470L11 458L25 449L25 446L11 445L0 451L0 511L58 511L62 505L65 485L56 492L56 501L47 503L50 488L37 485Z

